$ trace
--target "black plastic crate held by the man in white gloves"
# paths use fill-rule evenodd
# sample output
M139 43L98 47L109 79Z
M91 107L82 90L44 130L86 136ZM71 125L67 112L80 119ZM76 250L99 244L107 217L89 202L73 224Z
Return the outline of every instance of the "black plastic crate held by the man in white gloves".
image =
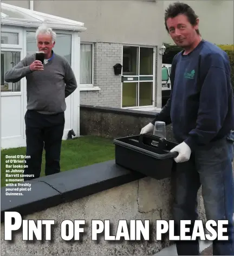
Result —
M161 180L171 176L178 152L170 152L177 143L151 134L114 139L115 163L129 170Z

